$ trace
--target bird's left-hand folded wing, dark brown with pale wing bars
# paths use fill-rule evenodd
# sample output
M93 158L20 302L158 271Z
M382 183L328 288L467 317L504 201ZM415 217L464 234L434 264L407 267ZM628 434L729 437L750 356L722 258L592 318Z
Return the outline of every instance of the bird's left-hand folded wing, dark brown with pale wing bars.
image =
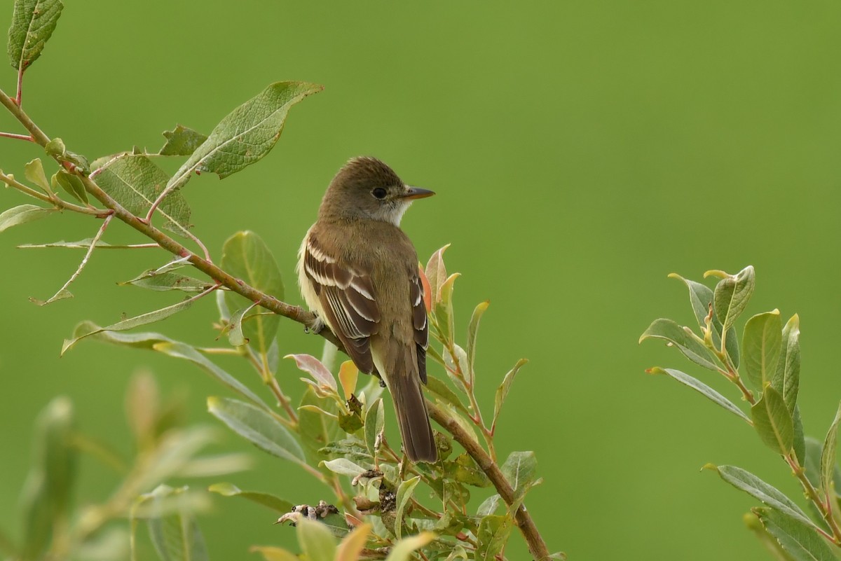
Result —
M371 374L370 337L378 332L380 315L369 272L341 263L312 233L304 248L304 272L347 354L359 370Z

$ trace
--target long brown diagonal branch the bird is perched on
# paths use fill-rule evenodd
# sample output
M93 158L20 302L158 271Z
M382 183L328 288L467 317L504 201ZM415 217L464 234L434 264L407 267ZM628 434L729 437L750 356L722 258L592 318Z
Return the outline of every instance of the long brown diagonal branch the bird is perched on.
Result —
M35 125L32 119L24 113L23 109L13 102L13 100L2 90L0 90L0 103L2 103L3 106L8 109L9 113L12 113L13 116L24 125L29 133L32 134L34 142L40 144L41 146L45 146L48 142L50 142L50 138L47 137L47 135L44 134L37 125ZM59 164L63 165L65 163L61 160L60 156L56 156L56 160ZM166 233L161 232L158 228L152 226L151 223L146 223L145 219L135 216L135 214L128 211L125 207L120 205L119 202L115 201L113 197L103 191L102 188L97 185L96 181L90 177L80 173L76 168L73 168L73 172L79 176L82 180L82 184L85 186L85 190L92 197L96 198L105 207L114 212L115 218L128 224L131 228L134 228L145 237L154 240L156 244L161 246L161 248L188 260L190 265L193 265L193 267L202 271L205 275L208 275L221 286L225 286L225 288L230 291L234 291L241 296L245 296L248 300L256 303L257 306L264 307L270 312L274 312L280 316L288 317L295 322L303 324L306 328L311 329L315 326L316 317L314 313L308 312L302 307L292 306L286 302L280 301L274 296L259 291L257 288L235 278L227 271L220 269L217 265L214 265L211 261L194 254L184 245L180 244L175 239L170 238ZM344 345L341 344L341 341L336 338L336 335L332 333L329 328L325 327L321 329L319 334L321 337L335 344L342 352L346 353ZM452 438L454 438L456 442L460 443L465 451L474 460L476 460L476 463L479 464L479 468L488 475L489 480L493 483L496 491L500 494L502 500L505 501L505 504L511 506L514 503L514 489L511 487L510 483L505 480L505 475L502 474L500 466L490 458L488 453L484 451L484 448L479 445L472 435L468 434L458 425L458 422L456 422L453 417L449 416L431 401L426 401L426 407L430 413L430 417L445 428L447 432L452 434ZM529 551L532 553L535 560L546 561L549 558L549 551L546 543L540 535L540 532L537 531L537 527L532 520L532 516L526 510L526 506L522 504L517 506L515 521L517 527L520 528L523 537L526 538Z

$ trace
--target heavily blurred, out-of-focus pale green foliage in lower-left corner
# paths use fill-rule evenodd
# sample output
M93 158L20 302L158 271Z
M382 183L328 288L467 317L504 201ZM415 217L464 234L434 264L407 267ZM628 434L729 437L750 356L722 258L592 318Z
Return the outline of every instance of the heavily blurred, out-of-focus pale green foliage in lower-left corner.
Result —
M134 521L139 520L147 522L151 541L162 558L167 558L164 552L177 547L178 542L169 535L178 528L193 536L191 548L204 543L193 515L209 508L208 495L187 487L173 489L163 482L235 473L250 467L250 459L244 454L201 455L214 441L214 430L183 426L182 401L161 401L151 375L135 375L125 403L134 444L130 459L83 433L66 397L50 401L40 413L34 431L33 464L20 506L23 535L19 540L0 540L10 558L127 558L130 543L135 543ZM119 474L115 488L103 493L107 499L76 500L81 454L93 456ZM119 522L126 517L133 521L131 535Z

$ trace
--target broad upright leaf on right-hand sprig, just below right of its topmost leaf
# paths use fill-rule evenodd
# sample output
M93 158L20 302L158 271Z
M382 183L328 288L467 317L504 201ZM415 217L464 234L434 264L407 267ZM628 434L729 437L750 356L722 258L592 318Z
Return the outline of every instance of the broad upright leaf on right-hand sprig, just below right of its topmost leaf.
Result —
M744 324L742 361L748 379L763 388L776 375L782 347L780 311L759 313ZM777 388L782 394L782 388Z

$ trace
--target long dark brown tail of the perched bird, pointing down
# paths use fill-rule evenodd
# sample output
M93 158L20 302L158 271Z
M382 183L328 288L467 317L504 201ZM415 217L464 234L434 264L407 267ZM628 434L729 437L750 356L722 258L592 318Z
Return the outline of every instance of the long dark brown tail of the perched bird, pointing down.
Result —
M413 462L435 462L438 453L429 414L426 412L417 357L413 352L405 352L409 349L390 350L392 356L386 360L388 366L384 369L387 373L385 379L394 399L394 412L397 413L403 449Z

